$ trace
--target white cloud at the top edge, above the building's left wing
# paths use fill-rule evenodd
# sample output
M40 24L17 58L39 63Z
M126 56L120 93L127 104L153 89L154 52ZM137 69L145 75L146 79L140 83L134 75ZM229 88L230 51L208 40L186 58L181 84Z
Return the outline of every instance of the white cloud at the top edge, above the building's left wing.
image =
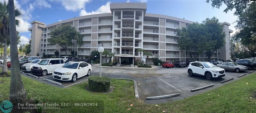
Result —
M77 11L85 8L90 0L62 0L61 4L67 11Z

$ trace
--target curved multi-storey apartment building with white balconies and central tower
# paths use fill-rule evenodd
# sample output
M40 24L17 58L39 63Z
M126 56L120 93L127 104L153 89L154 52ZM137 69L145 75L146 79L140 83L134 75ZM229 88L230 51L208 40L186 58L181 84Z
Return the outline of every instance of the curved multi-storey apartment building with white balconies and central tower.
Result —
M83 35L83 45L70 46L67 50L77 51L77 57L82 59L90 52L103 46L115 54L130 54L140 59L139 48L152 53L152 57L160 56L163 61L190 60L189 54L178 48L176 29L186 27L192 21L166 15L146 13L146 3L113 3L110 4L111 13L87 15L46 25L39 21L31 22L31 55L51 54L56 50L60 56L65 55L59 45L51 45L47 40L51 37L51 29L60 25L71 25ZM226 32L226 45L215 53L219 59L230 59L229 36L232 30L228 29L227 22L223 31ZM142 57L146 58L146 55ZM147 64L152 64L152 58ZM107 58L109 59L109 58ZM207 59L206 54L200 54L198 60ZM132 58L121 58L121 64L131 64ZM105 58L102 60L105 62Z

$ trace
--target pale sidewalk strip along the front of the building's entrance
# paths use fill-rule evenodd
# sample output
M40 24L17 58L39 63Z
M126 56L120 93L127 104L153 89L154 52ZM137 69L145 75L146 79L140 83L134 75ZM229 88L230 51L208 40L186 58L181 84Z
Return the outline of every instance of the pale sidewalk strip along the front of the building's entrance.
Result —
M92 65L96 65L97 67L100 67L100 64L92 64ZM155 66L155 65L150 65L152 68L145 68L145 67L138 67L137 65L135 65L135 67L131 67L131 65L122 65L121 64L121 66L112 66L112 67L110 67L110 66L101 66L101 67L108 67L108 68L121 68L121 69L127 69L127 68L129 68L129 69L154 69L154 68L156 68L156 67L158 67L158 66Z

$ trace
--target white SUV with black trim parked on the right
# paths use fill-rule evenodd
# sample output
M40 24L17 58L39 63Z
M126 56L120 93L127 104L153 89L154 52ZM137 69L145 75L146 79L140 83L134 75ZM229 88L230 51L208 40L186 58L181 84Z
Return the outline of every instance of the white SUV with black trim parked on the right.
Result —
M225 70L220 67L216 67L210 62L191 62L188 65L188 75L201 75L205 76L207 80L212 80L212 78L220 78L225 76Z

